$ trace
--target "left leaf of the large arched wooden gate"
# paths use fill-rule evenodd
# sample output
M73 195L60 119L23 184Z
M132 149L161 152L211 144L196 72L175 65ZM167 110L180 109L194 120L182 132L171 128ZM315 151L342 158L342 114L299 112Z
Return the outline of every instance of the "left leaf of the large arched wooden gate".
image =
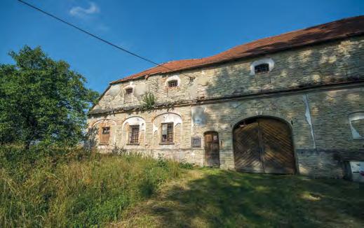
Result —
M234 129L234 163L238 171L264 173L257 122Z

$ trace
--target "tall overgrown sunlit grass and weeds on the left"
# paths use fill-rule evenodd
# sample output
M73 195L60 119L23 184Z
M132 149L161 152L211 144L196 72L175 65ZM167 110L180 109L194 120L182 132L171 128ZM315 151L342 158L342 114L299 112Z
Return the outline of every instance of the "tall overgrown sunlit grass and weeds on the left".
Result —
M179 164L82 149L0 148L0 227L88 227L121 220Z

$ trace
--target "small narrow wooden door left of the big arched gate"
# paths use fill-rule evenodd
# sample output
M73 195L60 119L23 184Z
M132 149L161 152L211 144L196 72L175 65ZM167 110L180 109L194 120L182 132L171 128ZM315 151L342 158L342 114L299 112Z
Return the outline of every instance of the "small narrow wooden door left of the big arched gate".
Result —
M215 131L205 133L205 166L220 166L219 135Z

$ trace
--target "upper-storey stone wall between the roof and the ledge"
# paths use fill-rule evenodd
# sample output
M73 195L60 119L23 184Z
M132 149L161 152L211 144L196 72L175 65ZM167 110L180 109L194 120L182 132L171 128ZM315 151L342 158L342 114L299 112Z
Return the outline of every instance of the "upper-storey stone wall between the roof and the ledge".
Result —
M262 75L251 75L252 62L267 58L274 61L274 69ZM93 111L137 106L147 91L156 96L159 104L164 104L358 80L364 78L363 62L363 37L349 38L219 66L118 83L105 92ZM195 80L191 81L189 77ZM169 78L178 78L179 86L168 87L166 81ZM127 96L128 87L134 90Z

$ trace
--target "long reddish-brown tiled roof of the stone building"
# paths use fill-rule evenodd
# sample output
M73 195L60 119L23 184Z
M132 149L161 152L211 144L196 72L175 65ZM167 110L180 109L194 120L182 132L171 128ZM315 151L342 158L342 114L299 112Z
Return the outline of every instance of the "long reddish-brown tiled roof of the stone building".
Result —
M358 36L361 34L364 34L363 15L358 17L349 17L326 24L320 24L306 29L290 31L278 36L262 38L257 41L238 45L234 48L210 57L166 62L161 64L166 68L162 66L155 66L151 69L147 69L146 71L135 73L126 78L116 80L110 84L121 83L127 80L142 78L144 76L150 76L157 73L168 73L185 69L193 69L201 66L228 62L243 57L264 55L269 52L277 52L279 50L287 50L289 48L297 48L303 45L332 41L335 39Z

